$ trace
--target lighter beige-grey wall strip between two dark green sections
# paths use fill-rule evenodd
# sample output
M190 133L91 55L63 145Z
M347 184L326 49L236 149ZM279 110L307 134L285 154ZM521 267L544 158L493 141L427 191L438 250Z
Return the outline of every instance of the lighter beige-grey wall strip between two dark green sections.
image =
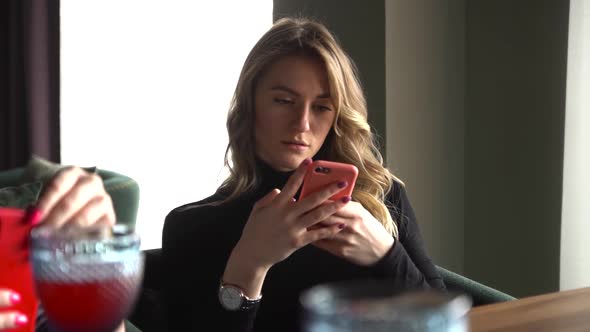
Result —
M465 0L386 4L388 167L432 260L463 273Z

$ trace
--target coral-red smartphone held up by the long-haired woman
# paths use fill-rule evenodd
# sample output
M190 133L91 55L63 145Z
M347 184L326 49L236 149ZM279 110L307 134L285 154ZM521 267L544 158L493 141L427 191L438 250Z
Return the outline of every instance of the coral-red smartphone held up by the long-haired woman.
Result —
M305 173L305 177L303 178L303 186L301 187L299 199L301 200L309 194L339 181L346 181L348 186L332 195L329 200L335 201L344 196L351 196L357 176L358 169L352 164L316 160L307 166L307 173Z

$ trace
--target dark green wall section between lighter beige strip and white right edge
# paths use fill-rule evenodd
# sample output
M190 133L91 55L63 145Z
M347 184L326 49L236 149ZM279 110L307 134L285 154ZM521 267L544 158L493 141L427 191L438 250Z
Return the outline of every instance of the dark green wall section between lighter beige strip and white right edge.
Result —
M559 287L568 1L466 6L465 273Z

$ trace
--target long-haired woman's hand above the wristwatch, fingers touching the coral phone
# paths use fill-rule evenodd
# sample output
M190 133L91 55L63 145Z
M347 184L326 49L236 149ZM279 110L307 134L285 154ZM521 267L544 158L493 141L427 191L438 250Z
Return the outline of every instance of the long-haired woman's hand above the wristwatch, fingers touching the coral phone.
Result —
M314 226L341 209L348 200L325 204L346 184L334 183L299 202L294 196L303 183L306 159L291 175L283 190L274 189L260 199L250 212L242 237L228 260L223 281L242 287L248 296L258 296L266 272L297 249L325 239L343 225Z

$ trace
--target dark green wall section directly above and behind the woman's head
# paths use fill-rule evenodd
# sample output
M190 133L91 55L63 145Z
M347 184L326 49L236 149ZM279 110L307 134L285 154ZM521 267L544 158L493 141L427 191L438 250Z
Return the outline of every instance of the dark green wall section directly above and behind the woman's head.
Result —
M369 123L385 142L385 4L383 1L274 0L273 16L320 20L356 63L369 109ZM383 154L385 150L382 149ZM385 157L385 156L384 156Z

